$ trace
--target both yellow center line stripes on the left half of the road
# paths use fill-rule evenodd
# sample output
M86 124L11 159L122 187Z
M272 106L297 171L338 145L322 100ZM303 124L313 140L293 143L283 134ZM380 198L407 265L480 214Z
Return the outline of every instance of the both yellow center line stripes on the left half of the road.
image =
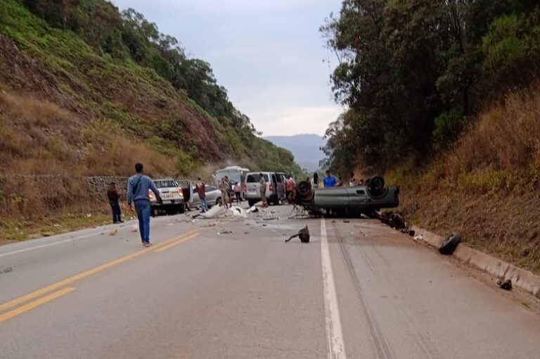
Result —
M169 248L172 248L173 246L176 246L176 244L181 244L182 242L188 241L190 239L193 239L195 237L198 237L200 235L200 232L196 232L195 230L187 232L179 237L175 237L173 239L169 239L168 241L164 241L163 243L158 244L157 246L153 247L153 251L155 252L162 252L166 251ZM136 251L135 253L131 253L127 256L124 256L122 258L118 258L116 260L113 260L109 263L105 263L103 265L99 265L98 267L92 268L91 270L86 270L85 272L79 273L78 275L74 275L72 277L69 277L67 279L64 279L60 282L56 282L55 284L51 284L50 286L46 286L43 289L39 289L37 291L34 291L30 294L26 294L25 296L20 296L19 298L13 299L13 301L8 301L6 303L0 304L0 313L4 312L5 310L8 310L10 308L19 306L20 304L26 303L27 301L31 301L32 299L38 298L35 301L32 301L30 303L27 303L23 306L20 306L18 308L15 308L14 310L8 311L4 314L0 314L0 322L4 322L5 320L8 320L12 317L15 317L15 315L19 315L21 313L25 313L28 310L31 310L33 308L36 308L37 306L41 306L44 303L47 303L49 301L52 301L53 299L56 299L60 296L63 296L65 294L68 294L75 290L74 287L69 287L68 285L77 282L81 279L84 279L86 277L89 277L91 275L95 275L98 272L101 272L103 270L107 270L110 267L115 267L116 265L119 265L121 263L127 262L128 260L131 260L133 258L139 257L143 255L144 253L148 253L148 249L141 249L141 251ZM65 288L63 288L65 287ZM58 291L56 291L59 289ZM55 291L54 293L51 293L51 291ZM51 293L51 294L49 294ZM48 294L45 296L45 294ZM42 296L42 297L41 297ZM41 298L39 298L41 297Z

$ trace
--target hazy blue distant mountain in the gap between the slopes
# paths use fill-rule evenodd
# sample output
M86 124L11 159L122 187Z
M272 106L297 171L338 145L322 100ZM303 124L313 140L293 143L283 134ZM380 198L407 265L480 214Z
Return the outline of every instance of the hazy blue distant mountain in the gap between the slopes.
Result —
M318 134L295 134L294 136L264 137L276 146L293 152L295 162L308 172L319 169L319 160L325 156L321 147L326 145L326 139Z

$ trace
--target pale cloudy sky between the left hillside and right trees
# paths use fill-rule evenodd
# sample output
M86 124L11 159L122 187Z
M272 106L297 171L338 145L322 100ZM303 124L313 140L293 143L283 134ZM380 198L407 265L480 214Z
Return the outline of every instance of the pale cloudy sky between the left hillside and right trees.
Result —
M342 107L337 60L319 32L341 0L113 0L134 8L212 65L229 99L263 136L323 135ZM323 60L325 62L323 62ZM330 63L328 63L330 61Z

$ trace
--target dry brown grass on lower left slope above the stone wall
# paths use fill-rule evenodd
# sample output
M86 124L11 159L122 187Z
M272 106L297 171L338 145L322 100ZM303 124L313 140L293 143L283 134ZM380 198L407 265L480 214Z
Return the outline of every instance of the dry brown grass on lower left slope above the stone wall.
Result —
M172 174L174 159L114 122L85 124L56 104L0 93L0 166L19 175L130 175L145 163L150 174Z

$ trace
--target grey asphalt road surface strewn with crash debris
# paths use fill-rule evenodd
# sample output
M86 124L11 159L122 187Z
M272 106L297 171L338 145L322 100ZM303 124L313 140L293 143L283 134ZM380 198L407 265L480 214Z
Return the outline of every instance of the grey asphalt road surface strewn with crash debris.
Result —
M539 315L432 249L270 209L0 247L0 358L540 358Z

